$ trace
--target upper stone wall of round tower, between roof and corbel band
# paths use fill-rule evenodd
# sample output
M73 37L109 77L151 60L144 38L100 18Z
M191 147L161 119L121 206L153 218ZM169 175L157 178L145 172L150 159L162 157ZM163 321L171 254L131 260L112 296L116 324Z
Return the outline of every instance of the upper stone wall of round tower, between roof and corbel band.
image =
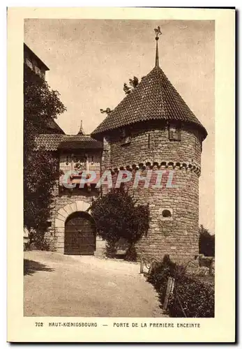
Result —
M111 141L112 168L146 161L190 162L200 165L201 139L197 130L188 126L181 129L181 141L169 140L168 126L160 129L133 128L130 144L123 144L119 137Z

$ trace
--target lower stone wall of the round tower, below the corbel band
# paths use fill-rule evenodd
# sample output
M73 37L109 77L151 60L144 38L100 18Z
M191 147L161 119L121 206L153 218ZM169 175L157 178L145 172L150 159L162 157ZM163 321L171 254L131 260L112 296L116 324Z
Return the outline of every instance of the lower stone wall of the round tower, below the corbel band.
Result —
M190 170L175 170L179 188L140 188L133 191L137 204L149 203L150 228L137 244L138 255L159 260L169 254L176 262L186 262L199 253L199 178ZM172 216L162 217L169 209Z

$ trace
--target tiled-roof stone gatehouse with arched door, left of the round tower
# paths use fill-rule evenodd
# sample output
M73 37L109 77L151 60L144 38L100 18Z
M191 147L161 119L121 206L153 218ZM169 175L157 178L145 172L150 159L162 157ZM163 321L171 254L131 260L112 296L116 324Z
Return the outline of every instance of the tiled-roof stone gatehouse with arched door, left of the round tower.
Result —
M91 201L100 192L95 181L80 188L84 171L96 172L97 180L100 177L103 142L85 135L81 125L77 135L42 134L36 144L59 158L62 172L54 187L52 218L46 234L50 249L70 255L103 254L105 242L96 235L96 225L89 212ZM63 185L65 174L73 188Z

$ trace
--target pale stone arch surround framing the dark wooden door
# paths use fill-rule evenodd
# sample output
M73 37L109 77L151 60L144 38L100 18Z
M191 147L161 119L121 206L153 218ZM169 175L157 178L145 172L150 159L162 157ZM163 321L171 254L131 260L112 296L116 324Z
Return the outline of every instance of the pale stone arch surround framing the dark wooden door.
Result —
M65 242L65 223L70 214L77 211L87 211L90 204L82 200L77 200L59 209L56 213L55 223L55 236L56 236L56 252L64 253Z

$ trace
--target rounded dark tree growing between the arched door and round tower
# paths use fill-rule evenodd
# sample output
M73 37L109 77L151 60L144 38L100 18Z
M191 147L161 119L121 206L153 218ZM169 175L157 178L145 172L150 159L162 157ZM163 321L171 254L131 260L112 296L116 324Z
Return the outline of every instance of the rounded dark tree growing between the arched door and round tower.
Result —
M98 235L107 241L107 253L114 253L115 244L121 237L128 241L129 250L133 251L135 242L149 229L149 206L136 205L123 186L94 200L91 214Z

